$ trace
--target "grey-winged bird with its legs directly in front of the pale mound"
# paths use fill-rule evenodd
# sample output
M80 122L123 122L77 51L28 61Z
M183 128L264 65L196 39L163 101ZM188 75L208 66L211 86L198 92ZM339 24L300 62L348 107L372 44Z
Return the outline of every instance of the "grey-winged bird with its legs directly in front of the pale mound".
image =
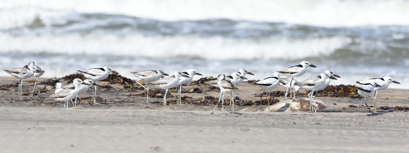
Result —
M332 77L331 75L329 75L328 73L321 73L320 75L316 76L316 77L312 77L312 78L308 78L304 81L298 82L298 83L294 83L295 86L300 86L301 89L308 89L311 90L311 92L308 94L308 97L310 98L310 113L312 113L312 95L314 93L315 89L320 88L321 86L324 86L325 84L325 80L331 78L334 80L337 80L337 78ZM315 104L315 108L318 109L317 104ZM317 112L317 110L314 109L314 113Z

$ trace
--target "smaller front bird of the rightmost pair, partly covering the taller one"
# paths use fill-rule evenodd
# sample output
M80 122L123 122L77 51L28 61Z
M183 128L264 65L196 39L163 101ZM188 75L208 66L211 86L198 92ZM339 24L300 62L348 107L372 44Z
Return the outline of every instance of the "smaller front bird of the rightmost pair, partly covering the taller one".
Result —
M370 79L366 81L359 81L356 83L358 84L358 94L362 95L359 113L361 114L362 102L364 102L364 98L366 98L366 101L365 101L366 107L368 108L369 112L372 113L371 109L369 109L369 106L366 104L366 102L368 102L368 97L369 95L371 95L371 93L373 93L373 90L375 89L375 87L381 87L381 86L377 84L374 79Z

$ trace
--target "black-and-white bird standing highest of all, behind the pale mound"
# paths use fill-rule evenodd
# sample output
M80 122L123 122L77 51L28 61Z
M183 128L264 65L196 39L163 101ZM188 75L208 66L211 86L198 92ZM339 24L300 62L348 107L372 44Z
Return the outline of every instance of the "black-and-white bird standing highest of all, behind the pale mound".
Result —
M292 67L289 67L287 69L283 69L283 70L280 70L280 71L277 71L277 72L282 73L285 76L291 77L292 79L290 81L290 86L292 86L292 80L294 78L297 79L297 77L300 77L301 75L306 73L307 72L307 67L316 67L316 66L310 64L310 62L302 61L299 65L292 66ZM292 88L290 88L290 95L291 95L291 89ZM295 92L292 92L292 93L294 93L294 98L293 99L296 100L295 99Z

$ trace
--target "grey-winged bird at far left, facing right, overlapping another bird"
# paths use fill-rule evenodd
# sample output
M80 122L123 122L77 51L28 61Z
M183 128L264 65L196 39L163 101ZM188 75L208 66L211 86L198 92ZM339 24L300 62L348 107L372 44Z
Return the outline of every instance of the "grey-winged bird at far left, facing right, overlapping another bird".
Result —
M23 79L25 78L30 78L32 76L34 76L34 72L44 72L42 70L38 70L36 66L28 66L27 68L24 67L19 67L16 69L11 69L11 70L4 70L7 73L9 73L10 75L12 75L13 77L19 78L20 82L18 83L18 99L22 99L22 83L23 83Z

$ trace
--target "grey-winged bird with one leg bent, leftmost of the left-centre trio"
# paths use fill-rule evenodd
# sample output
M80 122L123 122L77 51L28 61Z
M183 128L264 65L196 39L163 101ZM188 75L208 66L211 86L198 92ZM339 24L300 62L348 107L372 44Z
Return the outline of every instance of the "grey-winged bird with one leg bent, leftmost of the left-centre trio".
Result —
M168 76L169 74L166 74L162 70L146 70L146 71L140 71L140 72L130 72L139 80L136 80L136 83L142 86L138 81L142 80L145 82L145 84L148 84L147 88L145 86L142 86L146 89L146 103L148 103L149 100L149 82L154 82L159 80L163 75Z

